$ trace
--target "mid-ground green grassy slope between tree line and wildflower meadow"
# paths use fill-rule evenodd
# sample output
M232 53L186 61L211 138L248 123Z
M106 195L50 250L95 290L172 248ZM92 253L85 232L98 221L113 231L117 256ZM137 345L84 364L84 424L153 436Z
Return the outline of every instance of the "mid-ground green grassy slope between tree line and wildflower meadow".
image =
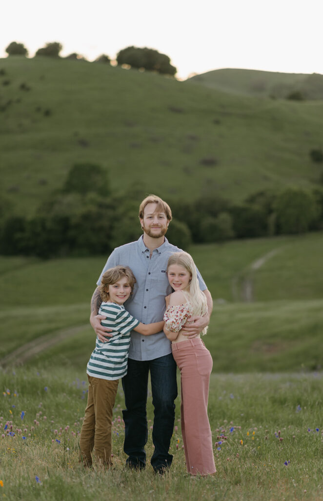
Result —
M322 234L313 233L190 249L213 298L226 301L215 301L205 338L216 372L322 365L317 350L323 329L323 285L318 280L322 239ZM277 254L251 274L250 265L272 249L278 249ZM26 342L63 327L85 324L89 297L104 262L105 257L48 262L1 258L0 358L17 349L21 337ZM15 265L20 268L13 270ZM236 277L238 284L245 277L252 278L257 302L232 303ZM13 308L17 290L22 299ZM30 363L69 365L72 360L81 369L92 345L93 334L85 329Z

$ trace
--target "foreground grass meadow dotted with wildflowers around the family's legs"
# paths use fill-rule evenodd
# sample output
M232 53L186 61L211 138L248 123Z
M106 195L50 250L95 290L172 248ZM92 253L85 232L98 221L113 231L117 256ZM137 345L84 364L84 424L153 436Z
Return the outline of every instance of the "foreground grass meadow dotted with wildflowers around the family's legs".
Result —
M180 434L179 402L163 477L147 465L123 468L122 392L113 427L113 469L78 464L78 434L85 402L84 371L17 369L2 378L0 395L0 495L23 499L129 500L176 498L228 501L321 499L322 374L212 375L209 419L217 473L189 478ZM152 405L148 396L148 461ZM177 448L178 447L178 448Z

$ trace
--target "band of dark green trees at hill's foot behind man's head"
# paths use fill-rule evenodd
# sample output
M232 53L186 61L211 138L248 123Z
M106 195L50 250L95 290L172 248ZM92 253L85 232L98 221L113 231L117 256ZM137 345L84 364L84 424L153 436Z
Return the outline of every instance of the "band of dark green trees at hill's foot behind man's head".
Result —
M42 258L108 254L141 234L138 206L145 195L135 185L112 194L106 170L91 163L75 164L62 188L31 218L10 215L12 208L0 199L0 254ZM191 241L222 242L323 227L319 189L260 191L241 204L214 196L168 201L173 220L167 237L185 250Z

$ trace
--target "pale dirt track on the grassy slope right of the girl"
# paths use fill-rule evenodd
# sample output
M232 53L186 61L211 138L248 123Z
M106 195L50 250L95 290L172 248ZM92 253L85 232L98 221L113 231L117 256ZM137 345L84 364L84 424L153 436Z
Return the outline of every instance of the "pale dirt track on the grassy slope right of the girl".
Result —
M253 295L253 276L270 258L275 256L281 247L275 247L268 253L253 261L250 265L244 268L241 272L237 273L231 282L231 291L233 301L243 301L245 303L252 303L254 300Z

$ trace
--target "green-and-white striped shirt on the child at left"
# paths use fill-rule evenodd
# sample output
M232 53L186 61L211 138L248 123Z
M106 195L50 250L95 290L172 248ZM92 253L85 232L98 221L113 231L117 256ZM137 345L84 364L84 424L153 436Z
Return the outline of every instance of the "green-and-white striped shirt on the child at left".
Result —
M98 311L104 315L101 325L112 329L113 337L102 343L96 338L95 350L87 363L86 374L99 379L115 380L126 375L130 331L139 324L123 306L102 303Z

